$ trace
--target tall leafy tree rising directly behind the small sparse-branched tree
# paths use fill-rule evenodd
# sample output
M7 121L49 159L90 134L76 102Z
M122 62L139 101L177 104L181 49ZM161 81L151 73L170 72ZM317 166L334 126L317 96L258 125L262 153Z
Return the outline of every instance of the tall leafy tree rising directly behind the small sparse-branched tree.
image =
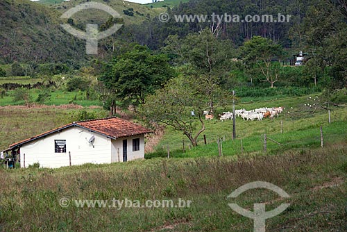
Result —
M229 41L219 40L217 30L205 28L199 33L189 34L183 40L178 35L170 35L166 40L166 51L175 56L175 63L185 65L181 72L186 75L200 75L209 85L203 90L210 99L209 110L214 112L212 95L230 72L232 49ZM229 76L228 76L229 77Z

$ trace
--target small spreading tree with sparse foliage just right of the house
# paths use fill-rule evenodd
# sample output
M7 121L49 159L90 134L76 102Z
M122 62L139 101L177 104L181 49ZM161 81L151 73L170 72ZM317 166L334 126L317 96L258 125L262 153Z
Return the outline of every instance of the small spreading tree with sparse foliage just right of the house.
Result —
M209 108L210 102L208 94L203 91L205 85L209 83L201 76L173 78L164 88L149 95L139 112L151 124L171 126L176 131L182 131L196 147L198 136L205 131L203 111ZM227 96L230 96L220 88L214 88L210 95L214 97L216 106L225 105Z

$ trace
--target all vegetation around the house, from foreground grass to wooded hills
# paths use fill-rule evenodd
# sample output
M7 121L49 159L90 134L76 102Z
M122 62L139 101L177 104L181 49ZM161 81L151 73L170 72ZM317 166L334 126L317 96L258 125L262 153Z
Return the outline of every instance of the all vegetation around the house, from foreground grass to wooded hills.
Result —
M290 203L285 213L266 219L266 231L346 231L346 0L146 6L95 0L121 18L88 10L60 19L88 1L1 0L0 151L63 124L117 116L155 129L146 135L151 152L129 163L60 169L40 162L6 169L0 158L0 231L251 231L253 220L228 207L230 192L251 181L269 181L290 195L285 201L252 190L233 201L244 208L265 202L268 210ZM160 13L169 21L161 22ZM213 21L212 13L291 17L231 23ZM206 14L205 22L175 20ZM81 31L87 24L99 31L123 26L88 56L85 41L64 31L63 23ZM304 53L301 67L293 62L298 51ZM217 117L232 110L232 100L237 109L285 110L271 120L237 117L232 138L232 121ZM214 119L205 120L205 110ZM66 208L62 197L70 199ZM74 205L74 199L113 197L193 203L119 210Z

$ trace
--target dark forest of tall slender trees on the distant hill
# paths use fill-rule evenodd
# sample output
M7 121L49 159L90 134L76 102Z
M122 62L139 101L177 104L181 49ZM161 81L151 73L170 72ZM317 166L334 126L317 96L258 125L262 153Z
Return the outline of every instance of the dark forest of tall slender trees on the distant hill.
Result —
M174 20L174 15L239 15L244 18L246 15L291 15L289 23L261 23L261 22L225 22L219 25L219 33L221 38L232 40L236 45L240 45L244 40L252 38L254 35L260 35L264 38L269 38L276 42L280 42L283 47L298 47L301 38L293 36L294 31L298 31L303 19L307 15L307 10L310 6L314 6L317 1L302 0L190 0L187 3L180 3L179 6L168 10L170 21L167 23L159 22L159 20L152 22L151 26L147 29L153 31L149 37L148 31L144 31L142 36L143 44L149 44L149 47L155 49L160 47L163 38L167 34L178 34L183 37L187 33L197 32L201 27L217 26L217 23L212 22L191 22L191 23L177 23ZM211 18L209 18L211 19ZM147 40L146 40L147 38Z

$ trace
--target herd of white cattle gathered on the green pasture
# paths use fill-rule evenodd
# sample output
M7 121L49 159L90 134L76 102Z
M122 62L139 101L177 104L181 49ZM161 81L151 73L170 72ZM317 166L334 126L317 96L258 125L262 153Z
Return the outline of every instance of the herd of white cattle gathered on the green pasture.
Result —
M280 107L273 107L273 108L257 108L254 110L245 110L245 109L241 109L241 110L235 110L235 115L236 117L242 117L242 119L244 120L258 120L261 121L264 117L269 117L270 119L273 119L273 117L278 116L280 113L282 113L282 111L285 108L280 106ZM206 120L211 120L214 118L214 115L210 114L208 111L204 111L203 112L205 115L205 119ZM231 112L223 112L221 115L218 115L219 119L221 120L221 122L228 120L228 119L232 119L233 115Z

